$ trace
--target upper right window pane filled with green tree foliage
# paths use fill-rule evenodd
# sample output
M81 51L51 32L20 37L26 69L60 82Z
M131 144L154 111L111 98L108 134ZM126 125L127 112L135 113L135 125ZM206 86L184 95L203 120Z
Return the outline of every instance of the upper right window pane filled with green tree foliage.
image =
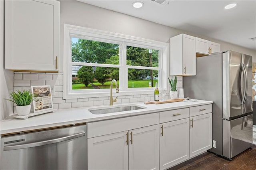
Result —
M127 65L158 67L159 50L127 46L126 56Z

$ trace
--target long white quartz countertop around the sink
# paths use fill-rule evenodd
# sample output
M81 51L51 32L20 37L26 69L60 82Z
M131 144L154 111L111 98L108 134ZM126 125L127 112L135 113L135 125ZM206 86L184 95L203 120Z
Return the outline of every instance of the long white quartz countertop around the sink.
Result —
M158 105L155 105L155 104L145 105L144 102L126 103L126 104L120 104L120 105L133 104L133 105L146 107L146 109L123 111L123 112L117 112L117 113L107 113L107 114L101 114L101 115L92 114L88 111L88 109L108 108L111 106L94 106L94 107L80 107L80 108L71 108L71 109L58 109L54 113L45 113L42 115L29 117L28 119L17 119L13 117L8 117L7 119L1 121L0 132L1 134L23 132L26 130L34 130L39 128L56 127L56 126L70 125L70 124L84 123L84 122L88 123L92 121L101 121L106 119L135 116L135 115L141 115L146 113L155 113L155 112L161 112L161 111L181 109L186 107L207 105L212 103L213 103L212 101L202 101L202 100L181 101L181 102L164 103L164 104L158 104Z

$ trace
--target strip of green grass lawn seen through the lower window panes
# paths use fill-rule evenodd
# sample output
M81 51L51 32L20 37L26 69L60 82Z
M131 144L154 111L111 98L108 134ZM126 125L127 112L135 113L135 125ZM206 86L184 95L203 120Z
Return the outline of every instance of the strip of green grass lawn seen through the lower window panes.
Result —
M148 87L148 82L150 80L128 80L128 88L136 88L136 87ZM158 80L154 80L154 86ZM110 83L111 81L107 81L104 83L104 85L101 85L100 83L93 83L94 85L97 85L100 87L100 89L110 89ZM117 81L117 84L119 85L119 81ZM115 88L115 85L113 84L113 88ZM92 85L88 85L88 87L85 87L84 84L75 84L72 85L73 90L81 90L81 89L93 89Z

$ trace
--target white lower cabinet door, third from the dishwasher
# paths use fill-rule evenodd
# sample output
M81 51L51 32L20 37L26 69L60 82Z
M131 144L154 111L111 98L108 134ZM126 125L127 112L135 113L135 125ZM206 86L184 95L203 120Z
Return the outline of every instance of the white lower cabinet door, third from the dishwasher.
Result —
M160 170L189 158L189 118L159 125Z

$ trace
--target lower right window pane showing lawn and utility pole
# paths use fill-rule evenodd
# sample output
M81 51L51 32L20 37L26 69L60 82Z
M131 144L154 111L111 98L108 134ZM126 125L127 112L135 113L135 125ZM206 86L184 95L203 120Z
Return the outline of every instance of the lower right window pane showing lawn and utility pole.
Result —
M158 83L158 70L128 69L128 88L155 87L156 82Z

